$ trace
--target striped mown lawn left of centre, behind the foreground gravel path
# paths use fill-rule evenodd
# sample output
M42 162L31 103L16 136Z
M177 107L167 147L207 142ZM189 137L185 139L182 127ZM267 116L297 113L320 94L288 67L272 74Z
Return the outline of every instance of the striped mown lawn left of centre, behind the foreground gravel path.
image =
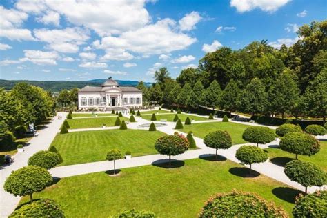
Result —
M163 132L146 130L99 130L58 134L51 146L61 157L61 165L82 164L106 160L108 150L117 148L123 154L127 150L132 156L152 155L157 153L155 141Z

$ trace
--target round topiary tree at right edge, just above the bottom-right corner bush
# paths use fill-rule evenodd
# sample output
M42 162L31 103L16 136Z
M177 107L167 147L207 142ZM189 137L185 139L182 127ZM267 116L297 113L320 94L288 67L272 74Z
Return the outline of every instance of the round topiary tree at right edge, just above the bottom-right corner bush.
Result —
M308 186L324 186L326 184L326 172L319 166L310 162L290 161L284 169L286 176L306 188Z

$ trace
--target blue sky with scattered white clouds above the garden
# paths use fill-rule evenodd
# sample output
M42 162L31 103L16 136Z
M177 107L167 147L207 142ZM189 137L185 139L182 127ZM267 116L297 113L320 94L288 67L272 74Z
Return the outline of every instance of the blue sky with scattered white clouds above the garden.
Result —
M326 0L2 0L0 79L175 78L221 46L291 46L326 17Z

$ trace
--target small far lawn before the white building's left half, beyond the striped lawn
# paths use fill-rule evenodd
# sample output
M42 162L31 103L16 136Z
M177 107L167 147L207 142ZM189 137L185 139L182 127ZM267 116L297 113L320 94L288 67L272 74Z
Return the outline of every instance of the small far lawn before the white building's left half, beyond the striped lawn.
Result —
M126 117L119 117L121 121L128 121ZM97 118L85 118L85 119L68 119L68 123L71 129L79 128L96 128L102 127L105 123L106 126L114 126L117 116L115 117L97 117Z

